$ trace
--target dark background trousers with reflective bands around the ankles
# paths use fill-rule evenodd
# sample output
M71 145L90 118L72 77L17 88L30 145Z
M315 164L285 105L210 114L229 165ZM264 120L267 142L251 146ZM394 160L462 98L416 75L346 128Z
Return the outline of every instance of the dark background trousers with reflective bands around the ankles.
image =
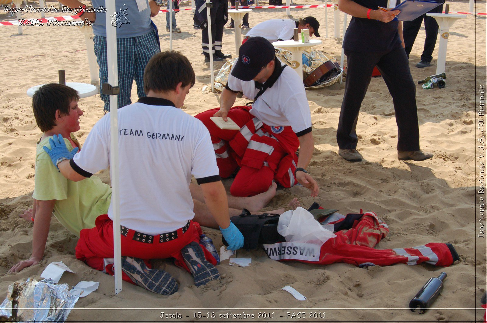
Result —
M227 0L212 0L211 2L213 3L213 8L210 9L212 44L209 44L207 25L201 30L201 47L207 55L210 53L210 47L212 53L222 50L223 29L227 21L225 17Z

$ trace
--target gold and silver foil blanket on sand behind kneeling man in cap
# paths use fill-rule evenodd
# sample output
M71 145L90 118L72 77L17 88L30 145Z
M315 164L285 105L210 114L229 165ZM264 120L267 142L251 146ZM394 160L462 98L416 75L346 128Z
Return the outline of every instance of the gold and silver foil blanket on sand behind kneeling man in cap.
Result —
M310 66L303 64L303 80L315 69L317 69L321 64L325 63L326 61L336 62L337 59L325 54L323 51L317 51L314 49L306 49L303 51L303 54L308 58ZM291 66L291 52L286 51L280 48L276 48L276 56L285 64ZM232 58L228 60L220 71L218 72L217 76L215 77L215 93L222 93L223 89L225 88L226 82L228 81L228 75L230 74L230 70L235 63L237 58ZM314 86L304 86L306 89L316 89L316 88L323 88L325 86L334 85L340 80L340 77L343 74L343 68L340 68L338 74L331 79L321 82L318 85ZM343 78L345 76L343 75ZM210 93L211 92L211 85L203 86L203 93Z

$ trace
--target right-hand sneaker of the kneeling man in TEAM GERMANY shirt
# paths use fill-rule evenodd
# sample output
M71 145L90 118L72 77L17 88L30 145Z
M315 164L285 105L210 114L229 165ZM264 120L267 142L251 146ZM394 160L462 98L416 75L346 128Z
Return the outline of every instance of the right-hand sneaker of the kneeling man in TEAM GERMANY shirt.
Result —
M181 250L181 255L193 275L196 287L220 278L218 270L206 260L205 253L198 243L193 241L186 245Z

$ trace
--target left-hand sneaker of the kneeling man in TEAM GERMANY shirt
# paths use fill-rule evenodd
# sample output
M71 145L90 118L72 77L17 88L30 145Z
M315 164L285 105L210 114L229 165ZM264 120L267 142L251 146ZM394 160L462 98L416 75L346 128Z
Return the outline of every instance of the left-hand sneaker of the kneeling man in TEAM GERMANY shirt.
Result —
M144 260L139 258L122 257L122 271L136 285L156 294L171 295L179 288L176 280L168 272L162 269L149 269Z

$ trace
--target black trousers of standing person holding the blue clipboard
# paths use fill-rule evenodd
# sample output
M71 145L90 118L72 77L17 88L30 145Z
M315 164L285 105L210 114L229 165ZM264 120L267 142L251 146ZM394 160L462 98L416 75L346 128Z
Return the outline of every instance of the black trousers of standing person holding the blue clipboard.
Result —
M419 150L419 126L416 111L416 85L412 80L406 52L398 47L389 52L363 53L345 51L347 78L337 128L341 149L356 149L356 125L360 106L369 87L375 66L382 74L393 98L397 123L397 149Z

